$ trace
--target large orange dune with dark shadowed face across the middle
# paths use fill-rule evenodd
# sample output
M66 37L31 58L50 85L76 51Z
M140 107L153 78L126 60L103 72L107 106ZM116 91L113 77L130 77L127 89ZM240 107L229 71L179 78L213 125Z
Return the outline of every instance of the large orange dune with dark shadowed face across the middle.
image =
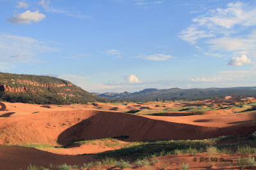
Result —
M252 115L141 116L111 111L51 111L0 119L4 143L67 145L77 139L205 139L254 132Z

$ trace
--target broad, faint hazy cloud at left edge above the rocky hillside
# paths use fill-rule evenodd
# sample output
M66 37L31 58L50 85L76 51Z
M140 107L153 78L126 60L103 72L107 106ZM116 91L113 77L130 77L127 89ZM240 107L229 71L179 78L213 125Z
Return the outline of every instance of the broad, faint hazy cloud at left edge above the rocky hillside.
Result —
M33 62L33 57L40 53L57 51L57 48L47 45L44 41L12 34L0 34L0 59L4 62Z

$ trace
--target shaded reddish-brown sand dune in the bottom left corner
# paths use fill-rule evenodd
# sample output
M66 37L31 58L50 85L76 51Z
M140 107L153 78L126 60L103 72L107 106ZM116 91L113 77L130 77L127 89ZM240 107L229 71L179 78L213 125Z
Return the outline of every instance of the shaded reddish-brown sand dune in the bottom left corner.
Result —
M48 167L51 163L55 165L65 163L69 165L83 165L83 163L93 160L91 155L58 155L35 148L20 146L1 146L0 153L0 169L3 170L27 169L29 164L44 167Z

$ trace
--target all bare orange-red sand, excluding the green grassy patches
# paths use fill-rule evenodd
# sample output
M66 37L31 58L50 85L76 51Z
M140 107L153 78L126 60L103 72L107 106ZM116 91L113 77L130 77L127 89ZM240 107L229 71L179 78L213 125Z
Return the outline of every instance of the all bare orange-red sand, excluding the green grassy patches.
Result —
M119 113L118 111L140 108L149 109L150 111L164 110L164 107L202 106L253 100L255 99L226 97L225 99L191 103L152 102L145 104L128 103L126 105L98 103L97 106L92 104L56 106L2 103L0 104L0 145L30 143L67 145L72 140L77 139L102 139L116 136L129 136L128 139L125 139L129 142L161 139L205 139L248 134L256 130L256 112L232 113L232 110L230 110L228 113L232 114L228 114L223 110L218 110L209 111L205 115L169 113L170 115L166 117L134 115ZM156 105L159 105L159 107L155 107ZM20 167L26 169L30 163L38 166L48 166L50 163L83 164L83 162L93 160L93 157L75 155L99 153L113 149L117 148L86 144L61 150L51 150L51 152L58 153L54 154L34 148L0 146L0 169L19 169ZM233 156L236 157L237 155ZM159 164L167 162L168 169L179 169L180 162L183 160L185 163L189 162L191 158L188 155L170 155L163 157L163 160L159 158ZM222 164L220 164L221 166ZM204 164L194 165L193 162L191 162L191 167L192 169L196 167L209 168ZM225 166L227 169L237 168L236 166L231 167Z

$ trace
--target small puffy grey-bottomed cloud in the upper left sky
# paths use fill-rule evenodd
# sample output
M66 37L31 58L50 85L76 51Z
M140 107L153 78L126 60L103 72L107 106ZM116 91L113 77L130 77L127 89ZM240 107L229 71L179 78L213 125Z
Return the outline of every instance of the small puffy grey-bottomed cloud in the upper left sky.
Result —
M39 13L38 11L25 11L24 13L20 13L18 15L14 15L11 18L8 18L8 22L12 24L31 24L31 22L39 22L40 20L44 19L45 15Z

